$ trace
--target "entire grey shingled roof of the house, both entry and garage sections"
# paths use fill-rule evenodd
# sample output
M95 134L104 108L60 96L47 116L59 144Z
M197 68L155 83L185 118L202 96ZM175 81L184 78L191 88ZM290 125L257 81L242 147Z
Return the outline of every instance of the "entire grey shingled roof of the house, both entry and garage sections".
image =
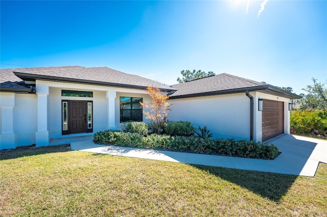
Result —
M259 91L290 99L301 98L296 94L272 85L255 82L254 80L227 73L169 86L154 82L145 77L127 74L107 67L63 66L0 69L1 91L32 93L35 91L26 85L24 81L35 80L51 80L54 82L71 82L132 89L146 89L148 86L155 86L162 91L172 93L170 99L241 93L245 91Z

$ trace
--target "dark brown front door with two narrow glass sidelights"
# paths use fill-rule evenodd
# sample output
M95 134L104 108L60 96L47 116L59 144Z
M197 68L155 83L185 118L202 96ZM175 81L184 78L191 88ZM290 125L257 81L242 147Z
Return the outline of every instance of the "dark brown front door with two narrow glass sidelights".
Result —
M93 131L92 101L62 100L62 134Z

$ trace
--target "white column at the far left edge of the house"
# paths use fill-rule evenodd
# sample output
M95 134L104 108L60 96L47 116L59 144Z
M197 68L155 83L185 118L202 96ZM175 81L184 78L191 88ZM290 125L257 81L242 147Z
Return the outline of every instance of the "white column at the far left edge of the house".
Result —
M1 94L0 149L16 148L16 138L14 132L14 122L15 122L14 107L15 107L15 94L14 93Z

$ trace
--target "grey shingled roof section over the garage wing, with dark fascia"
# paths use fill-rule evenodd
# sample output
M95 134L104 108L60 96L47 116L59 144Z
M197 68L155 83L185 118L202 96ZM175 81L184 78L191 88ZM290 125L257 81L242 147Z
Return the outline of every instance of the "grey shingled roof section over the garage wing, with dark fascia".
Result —
M267 85L255 80L222 73L210 77L204 77L190 82L172 86L177 89L170 99L190 98L199 96L211 96L219 94L242 93L247 91L259 91L290 99L299 99L300 96L272 85Z

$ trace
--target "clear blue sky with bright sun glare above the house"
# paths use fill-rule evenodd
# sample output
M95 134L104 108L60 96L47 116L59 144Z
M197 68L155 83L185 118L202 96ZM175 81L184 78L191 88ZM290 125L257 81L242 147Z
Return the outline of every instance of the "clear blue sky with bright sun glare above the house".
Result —
M201 69L297 94L327 80L327 1L0 4L1 68L106 66L168 85Z

